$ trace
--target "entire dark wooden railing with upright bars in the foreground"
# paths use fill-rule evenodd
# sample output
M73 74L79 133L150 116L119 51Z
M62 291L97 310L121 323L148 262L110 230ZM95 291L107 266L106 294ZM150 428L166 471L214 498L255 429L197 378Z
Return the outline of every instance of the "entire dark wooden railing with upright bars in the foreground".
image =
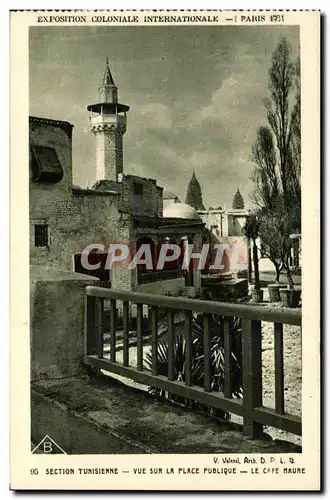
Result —
M110 359L104 356L102 325L103 300L110 299ZM116 315L117 305L122 303L123 314L123 362L116 359ZM129 308L137 308L137 363L129 363ZM143 305L150 307L152 346L152 369L143 366ZM167 311L168 374L158 374L157 360L157 315L158 310ZM185 377L184 382L174 380L174 314L185 314ZM192 312L203 315L204 342L204 387L192 384ZM211 331L212 315L224 317L224 393L211 388ZM232 396L232 363L230 355L232 318L241 318L242 323L242 386L243 398ZM262 405L262 321L274 323L275 353L275 408ZM120 292L94 286L86 287L85 304L85 363L96 369L103 369L149 385L197 400L202 404L243 417L243 432L251 438L260 436L263 426L276 427L301 435L301 418L285 412L284 405L284 363L283 324L301 325L301 312L274 310L267 306L228 304L182 297Z

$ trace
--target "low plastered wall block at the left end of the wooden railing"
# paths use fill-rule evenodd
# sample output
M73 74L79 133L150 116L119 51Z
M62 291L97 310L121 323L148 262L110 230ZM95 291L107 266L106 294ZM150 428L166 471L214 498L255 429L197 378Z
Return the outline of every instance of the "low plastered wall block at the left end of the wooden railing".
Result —
M30 267L31 380L82 371L84 290L98 281L61 269Z

